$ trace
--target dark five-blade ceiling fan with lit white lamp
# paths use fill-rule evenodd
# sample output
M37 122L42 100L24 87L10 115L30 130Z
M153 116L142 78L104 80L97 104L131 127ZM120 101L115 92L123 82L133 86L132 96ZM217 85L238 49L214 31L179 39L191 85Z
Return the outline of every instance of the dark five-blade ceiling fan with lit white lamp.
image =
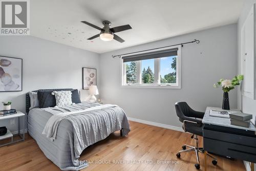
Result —
M119 42L124 42L124 40L121 37L119 37L118 35L116 35L114 33L132 29L132 27L130 25L123 25L123 26L110 28L111 22L109 22L109 21L103 21L102 22L102 24L104 26L103 28L95 26L95 25L93 25L91 23L88 23L86 21L82 21L82 23L87 24L87 25L89 25L89 26L91 26L95 29L100 30L99 34L96 34L96 35L88 38L88 40L92 40L96 37L100 37L100 39L103 40L103 41L111 41L111 40L115 39Z

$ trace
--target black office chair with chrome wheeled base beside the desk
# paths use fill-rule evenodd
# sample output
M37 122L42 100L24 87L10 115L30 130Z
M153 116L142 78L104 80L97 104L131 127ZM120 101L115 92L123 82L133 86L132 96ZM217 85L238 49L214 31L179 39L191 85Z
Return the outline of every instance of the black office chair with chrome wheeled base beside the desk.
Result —
M183 150L179 151L176 156L180 158L180 153L184 152L191 152L194 151L196 153L197 157L197 164L195 164L195 167L197 169L200 168L200 161L199 161L199 152L204 153L203 148L198 147L198 138L197 136L203 136L203 124L202 119L204 117L203 112L197 112L191 109L186 102L177 102L175 103L175 109L176 114L179 117L179 120L183 123L182 128L185 132L189 132L193 134L191 138L195 139L195 146L190 146L187 144L184 144L182 146ZM186 149L188 147L188 149ZM209 157L211 157L212 164L217 164L217 159L207 154Z

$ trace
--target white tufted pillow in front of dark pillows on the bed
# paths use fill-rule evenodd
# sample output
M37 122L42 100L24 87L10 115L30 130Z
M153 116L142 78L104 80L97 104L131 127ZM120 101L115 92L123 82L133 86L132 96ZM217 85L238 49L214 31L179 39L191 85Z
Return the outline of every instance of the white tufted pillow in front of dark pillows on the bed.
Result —
M56 105L58 107L72 104L71 91L54 91L52 92L52 95L55 95Z

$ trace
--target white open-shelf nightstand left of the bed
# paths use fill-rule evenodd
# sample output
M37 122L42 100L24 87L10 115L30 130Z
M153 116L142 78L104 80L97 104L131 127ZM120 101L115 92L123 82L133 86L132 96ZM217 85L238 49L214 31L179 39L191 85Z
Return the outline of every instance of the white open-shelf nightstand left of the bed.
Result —
M2 144L0 145L1 146L4 146L4 145L9 145L9 144L13 144L13 143L16 143L16 142L19 142L19 141L24 141L25 140L25 114L22 113L22 112L19 112L17 111L16 114L12 114L12 115L7 115L7 116L0 116L0 120L5 120L5 119L13 119L13 118L18 118L18 133L15 134L15 135L18 135L21 139L18 139L18 140L15 140L13 141L13 135L9 130L7 130L7 133L3 136L0 136L0 140L4 140L4 139L8 139L8 138L11 138L11 142L8 142L8 143L5 143L5 144ZM23 133L20 134L20 117L23 118Z

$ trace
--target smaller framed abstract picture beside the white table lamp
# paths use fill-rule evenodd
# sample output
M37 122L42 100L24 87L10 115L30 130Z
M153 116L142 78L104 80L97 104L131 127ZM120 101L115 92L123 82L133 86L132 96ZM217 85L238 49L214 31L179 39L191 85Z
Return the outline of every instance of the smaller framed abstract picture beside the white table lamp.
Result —
M82 89L88 90L89 86L97 86L97 71L95 68L82 68Z

